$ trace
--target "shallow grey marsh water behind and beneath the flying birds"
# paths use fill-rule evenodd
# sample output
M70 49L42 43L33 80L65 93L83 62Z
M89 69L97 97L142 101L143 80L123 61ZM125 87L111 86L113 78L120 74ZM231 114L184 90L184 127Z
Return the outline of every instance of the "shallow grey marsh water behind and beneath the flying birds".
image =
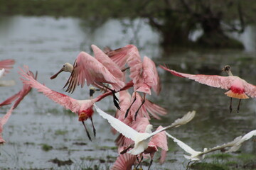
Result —
M138 21L139 22L139 21ZM135 22L136 23L136 22ZM139 23L136 23L139 24ZM92 54L90 45L109 46L112 49L129 43L136 43L142 56L151 57L156 65L167 64L178 72L191 74L220 74L225 64L230 64L233 74L256 84L256 28L250 26L242 35L233 35L242 40L245 50L174 50L166 53L159 46L159 35L149 26L141 26L137 36L132 30L124 31L122 23L110 20L100 28L88 28L78 18L24 17L0 18L0 60L14 59L14 69L2 80L14 80L14 86L1 86L1 101L16 94L22 83L18 68L28 65L31 71L38 71L38 81L50 89L65 94L63 86L68 73L60 74L54 80L50 77L58 72L63 63L75 61L80 51ZM230 98L225 90L215 89L194 81L174 77L158 67L162 91L159 96L148 96L151 101L163 106L168 114L162 120L151 120L154 125L169 125L188 111L195 110L196 118L191 123L169 132L194 149L214 147L233 140L256 129L256 100L243 100L240 112L236 113L238 100L233 100L233 112L229 113ZM89 98L88 87L78 87L73 98ZM96 94L99 95L99 94ZM103 110L114 113L112 98L98 103ZM10 106L0 109L1 116ZM97 136L88 140L82 123L74 113L31 91L4 125L0 146L0 168L9 169L82 169L100 166L108 169L117 157L114 145L116 135L112 135L110 125L93 115ZM87 121L90 127L90 121ZM92 134L92 130L90 128ZM49 147L49 150L45 147ZM242 153L255 154L256 143L249 140L242 145ZM159 153L154 157L152 169L184 169L188 161L182 149L169 140L169 152L163 165L157 163ZM238 155L239 153L235 153ZM52 159L71 160L73 164L58 166Z

